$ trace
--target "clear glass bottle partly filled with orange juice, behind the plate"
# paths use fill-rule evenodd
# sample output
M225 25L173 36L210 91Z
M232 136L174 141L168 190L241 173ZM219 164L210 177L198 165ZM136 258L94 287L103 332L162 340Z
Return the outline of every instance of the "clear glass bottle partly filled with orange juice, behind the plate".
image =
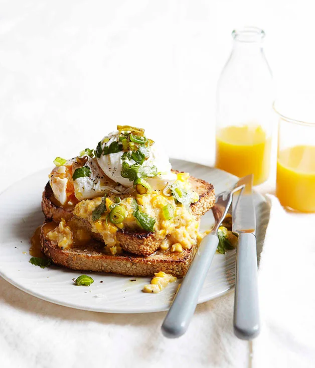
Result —
M245 27L232 37L232 53L217 86L216 167L238 177L253 173L257 185L269 175L273 120L265 33Z

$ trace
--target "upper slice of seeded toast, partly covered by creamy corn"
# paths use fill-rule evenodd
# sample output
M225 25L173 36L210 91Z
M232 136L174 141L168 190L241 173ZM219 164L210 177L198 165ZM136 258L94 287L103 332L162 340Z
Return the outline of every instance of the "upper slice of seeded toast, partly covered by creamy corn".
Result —
M174 171L179 173L178 171ZM199 218L204 215L215 203L215 194L212 184L207 183L202 179L190 177L192 189L199 194L199 200L196 203L191 204L192 213ZM91 225L88 221L74 216L71 208L63 208L56 204L54 193L49 183L47 183L43 192L42 209L47 221L60 222L62 218L69 221L72 217L75 217L80 222L80 226L89 230L91 235L99 241L103 241L102 236L99 233L91 231ZM147 232L145 230L137 230L137 232L128 229L118 229L116 232L116 238L120 247L129 253L136 255L149 256L153 254L164 239L156 240L154 232Z

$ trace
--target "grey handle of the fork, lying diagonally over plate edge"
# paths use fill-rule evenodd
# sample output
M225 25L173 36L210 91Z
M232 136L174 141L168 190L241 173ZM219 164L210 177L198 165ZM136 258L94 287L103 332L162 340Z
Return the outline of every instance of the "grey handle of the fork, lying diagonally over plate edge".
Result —
M202 239L193 262L163 322L162 332L164 336L176 338L187 331L218 243L218 236L214 234L209 234Z

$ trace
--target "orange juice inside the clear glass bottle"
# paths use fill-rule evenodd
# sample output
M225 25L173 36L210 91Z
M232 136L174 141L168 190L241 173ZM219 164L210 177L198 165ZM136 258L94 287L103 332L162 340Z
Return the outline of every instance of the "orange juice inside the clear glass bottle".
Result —
M254 174L254 185L267 180L271 138L260 125L220 128L216 133L216 167L238 177Z

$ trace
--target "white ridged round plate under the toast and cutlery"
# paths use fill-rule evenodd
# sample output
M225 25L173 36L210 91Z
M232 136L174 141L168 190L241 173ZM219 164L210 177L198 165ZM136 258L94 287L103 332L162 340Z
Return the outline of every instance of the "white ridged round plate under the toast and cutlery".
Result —
M172 160L180 171L213 183L216 193L235 183L236 177L224 171ZM146 313L167 310L180 281L170 284L160 294L142 293L145 277L125 277L91 273L94 283L89 287L75 286L72 279L81 272L58 266L41 269L29 263L30 236L44 216L41 197L48 181L49 169L40 171L14 184L0 195L0 275L19 289L40 299L67 307L110 313ZM257 253L262 249L269 207L263 196L254 194L257 214ZM213 223L212 212L202 219L202 229ZM136 279L136 281L130 281ZM235 251L216 254L200 294L199 303L216 298L233 288ZM100 283L103 281L103 283Z

